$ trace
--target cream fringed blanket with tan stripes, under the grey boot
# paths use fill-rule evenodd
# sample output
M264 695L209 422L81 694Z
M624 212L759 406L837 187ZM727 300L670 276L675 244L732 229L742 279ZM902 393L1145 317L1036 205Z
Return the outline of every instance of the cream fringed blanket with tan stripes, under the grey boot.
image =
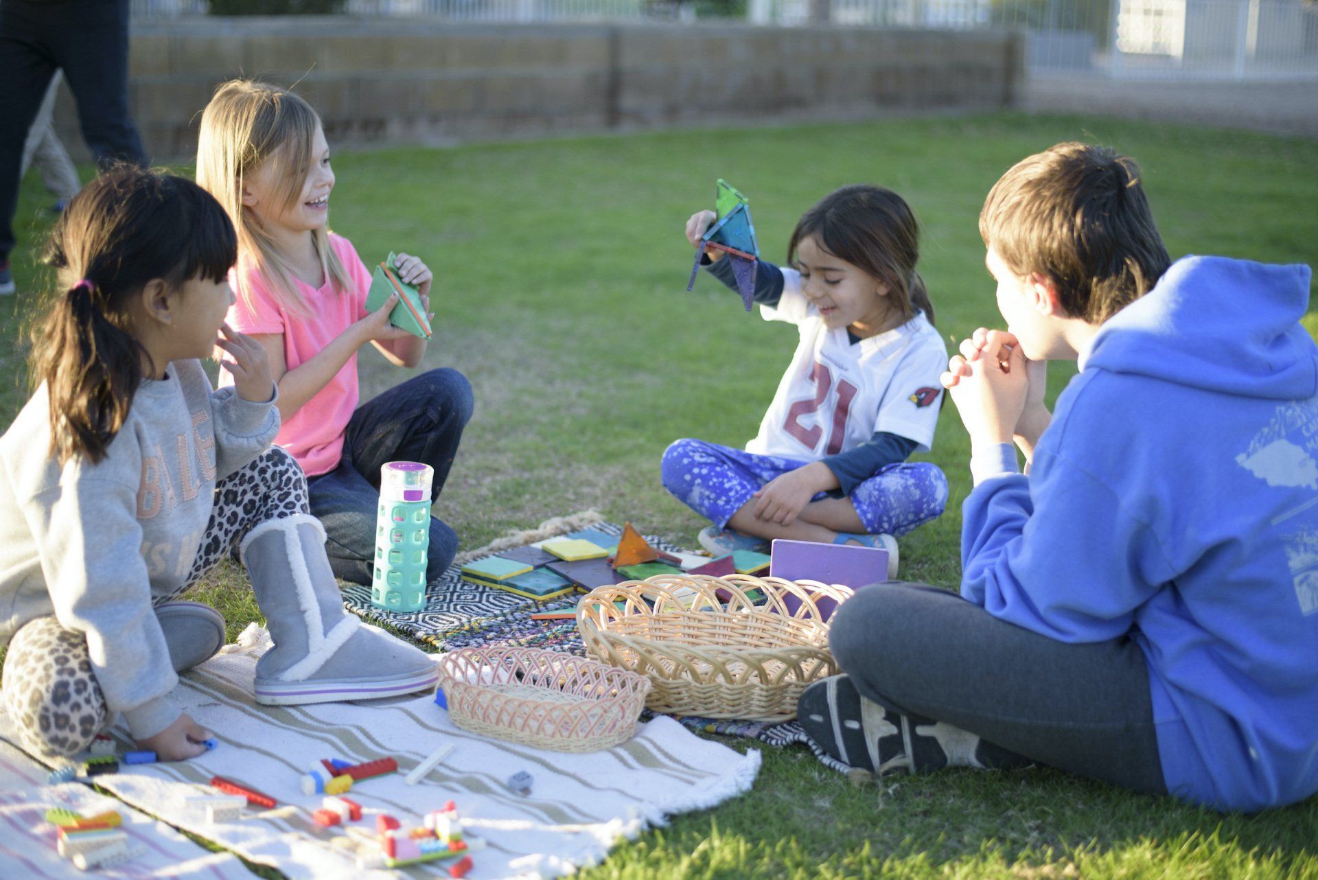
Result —
M739 754L700 739L670 718L639 726L637 736L617 748L564 755L461 731L428 696L256 706L252 680L268 643L248 639L246 647L228 646L181 680L177 697L185 711L216 732L220 746L215 751L177 764L125 767L98 776L96 783L128 804L295 880L397 877L385 869L358 868L360 855L378 850L376 817L387 813L403 826L415 826L449 798L464 831L488 840L488 848L473 855L472 880L560 876L601 860L614 843L663 823L667 815L710 808L747 790L759 769L759 752ZM8 734L8 721L0 715L0 736L12 739ZM456 750L420 784L406 785L403 775L444 743L456 743ZM121 748L129 748L127 740ZM399 772L364 780L348 793L361 804L362 821L340 827L312 821L322 796L306 796L299 788L311 761L361 763L382 756L397 759ZM534 780L529 796L507 786L518 771ZM185 798L207 792L214 775L257 788L278 804L248 808L237 822L208 825ZM448 876L444 863L418 866L409 875Z

